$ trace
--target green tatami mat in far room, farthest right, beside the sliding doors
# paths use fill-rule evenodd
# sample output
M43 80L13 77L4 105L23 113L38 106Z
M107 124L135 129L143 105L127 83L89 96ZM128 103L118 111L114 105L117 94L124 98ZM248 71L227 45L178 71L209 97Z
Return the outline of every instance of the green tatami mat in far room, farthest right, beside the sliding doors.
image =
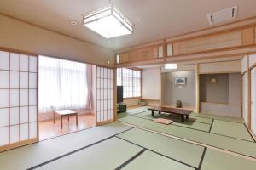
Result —
M243 123L214 120L211 132L237 139L254 141L252 136L247 132L247 127L245 127Z

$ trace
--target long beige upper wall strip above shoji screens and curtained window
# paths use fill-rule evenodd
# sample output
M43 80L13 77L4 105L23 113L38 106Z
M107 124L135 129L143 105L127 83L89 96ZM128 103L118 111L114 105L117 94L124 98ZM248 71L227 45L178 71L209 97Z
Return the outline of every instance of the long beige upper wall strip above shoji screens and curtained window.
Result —
M113 51L0 15L0 47L98 65L114 64Z

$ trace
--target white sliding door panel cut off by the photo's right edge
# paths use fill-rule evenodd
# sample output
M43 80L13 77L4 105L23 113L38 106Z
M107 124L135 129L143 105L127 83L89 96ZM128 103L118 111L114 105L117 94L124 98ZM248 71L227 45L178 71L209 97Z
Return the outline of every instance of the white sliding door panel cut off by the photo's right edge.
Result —
M256 134L256 68L251 71L251 129Z

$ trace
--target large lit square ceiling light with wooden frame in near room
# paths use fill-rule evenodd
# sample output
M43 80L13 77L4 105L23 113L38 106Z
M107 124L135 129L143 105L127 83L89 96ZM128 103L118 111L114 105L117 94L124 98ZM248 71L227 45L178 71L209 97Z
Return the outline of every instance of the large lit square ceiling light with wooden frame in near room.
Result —
M133 26L113 4L99 8L83 16L84 26L106 38L131 34Z

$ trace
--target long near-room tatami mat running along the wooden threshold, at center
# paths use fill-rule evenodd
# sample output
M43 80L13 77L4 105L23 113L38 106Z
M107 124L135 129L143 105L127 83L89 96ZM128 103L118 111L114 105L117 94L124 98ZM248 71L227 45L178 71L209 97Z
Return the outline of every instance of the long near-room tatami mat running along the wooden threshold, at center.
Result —
M117 135L121 139L154 150L174 160L185 162L192 167L199 167L204 147L172 139L160 134L133 128Z

